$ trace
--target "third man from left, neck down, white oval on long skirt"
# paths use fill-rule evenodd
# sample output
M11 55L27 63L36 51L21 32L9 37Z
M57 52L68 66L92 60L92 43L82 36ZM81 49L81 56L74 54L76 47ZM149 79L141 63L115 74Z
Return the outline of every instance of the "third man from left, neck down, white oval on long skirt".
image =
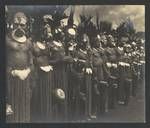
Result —
M53 118L55 120L65 120L68 110L68 78L67 64L72 62L72 58L65 55L65 49L61 41L53 40L51 45L50 64L53 66L54 87L53 92ZM61 94L61 95L60 95Z

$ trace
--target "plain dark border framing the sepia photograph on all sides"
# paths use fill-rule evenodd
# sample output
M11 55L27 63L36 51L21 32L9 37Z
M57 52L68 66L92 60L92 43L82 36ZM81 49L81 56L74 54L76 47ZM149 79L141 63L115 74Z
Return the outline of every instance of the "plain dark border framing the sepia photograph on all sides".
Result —
M52 123L52 124L6 124L5 123L5 5L145 5L145 48L146 48L146 123ZM150 128L150 1L149 0L1 0L0 1L0 128Z

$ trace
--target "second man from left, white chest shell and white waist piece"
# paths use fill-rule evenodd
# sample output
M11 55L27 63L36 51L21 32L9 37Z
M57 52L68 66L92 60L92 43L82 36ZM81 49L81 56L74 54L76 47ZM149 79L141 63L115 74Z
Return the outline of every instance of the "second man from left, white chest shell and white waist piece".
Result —
M52 120L52 88L53 67L49 64L52 43L51 22L52 17L45 14L42 17L40 37L36 37L33 45L34 65L36 72L36 87L32 97L32 121L48 122Z

